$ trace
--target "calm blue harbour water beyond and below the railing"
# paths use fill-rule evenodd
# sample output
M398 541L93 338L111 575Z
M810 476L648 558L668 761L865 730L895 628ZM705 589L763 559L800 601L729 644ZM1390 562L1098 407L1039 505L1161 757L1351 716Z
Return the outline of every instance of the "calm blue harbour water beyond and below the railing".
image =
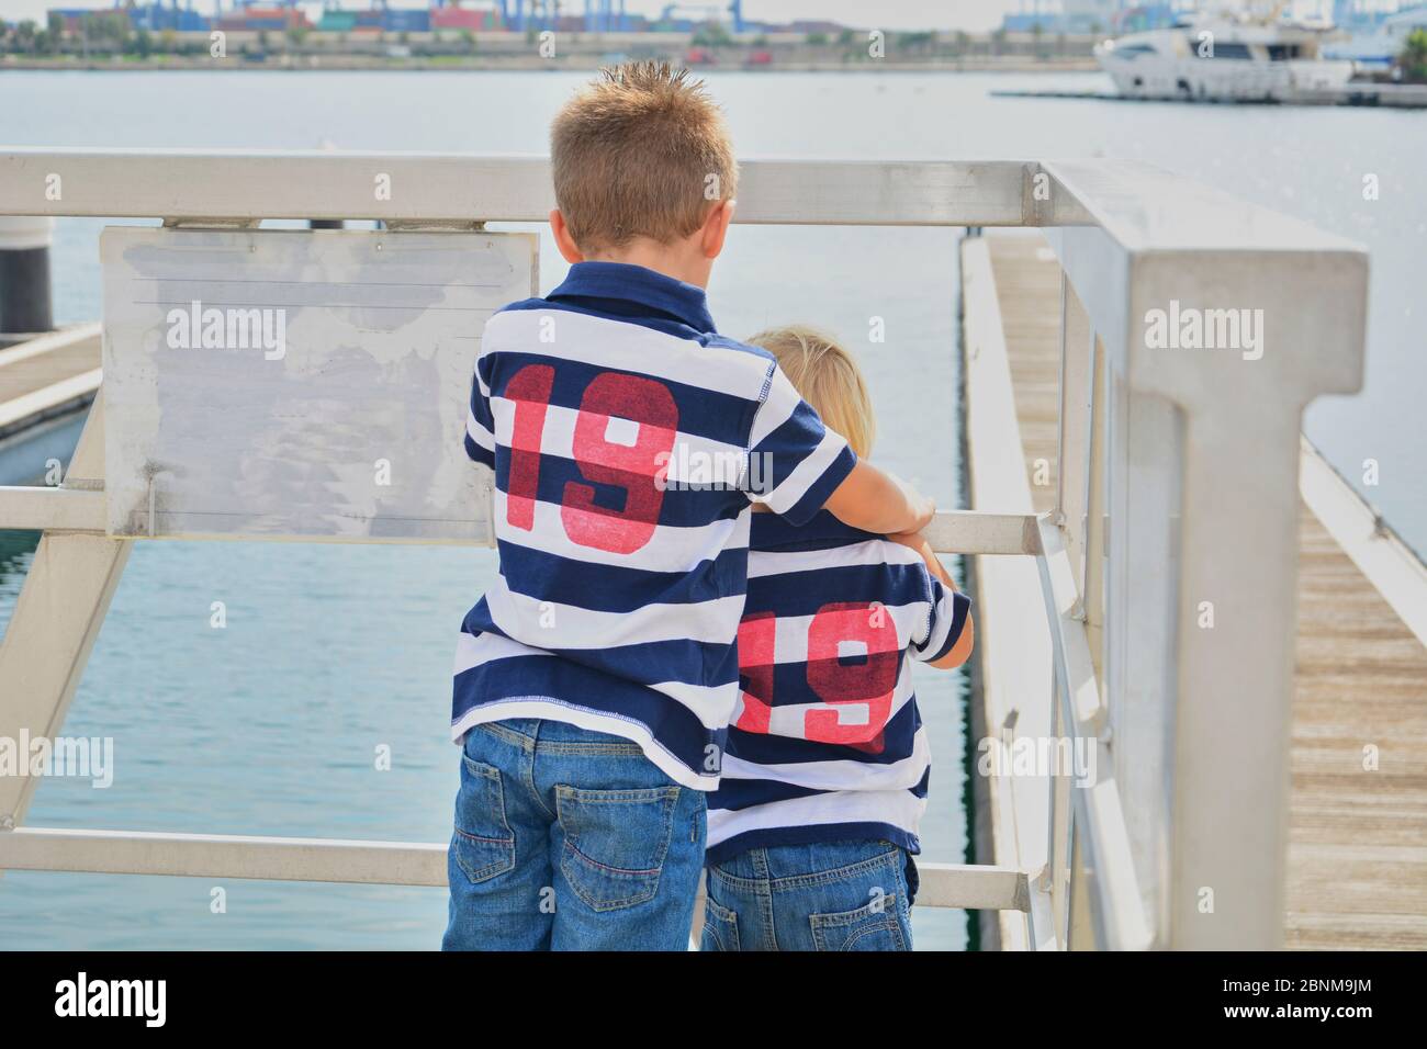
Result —
M6 73L0 143L24 146L539 153L565 74ZM1417 400L1427 382L1423 261L1427 113L1219 108L990 98L995 87L1102 87L1095 76L715 74L741 156L1150 160L1299 214L1373 251L1364 394L1317 404L1309 434L1427 548ZM1378 176L1377 201L1361 198ZM96 235L54 251L59 320L98 317ZM548 238L542 285L562 275ZM723 331L812 321L862 355L876 458L958 505L955 234L741 227L715 271ZM1414 315L1416 310L1416 315ZM870 344L870 318L886 341ZM0 539L0 544L6 539ZM0 627L31 544L0 545ZM138 544L66 735L113 736L106 791L54 779L47 826L444 841L457 751L445 739L454 632L495 571L484 551ZM208 625L211 602L228 609ZM963 681L918 668L938 768L926 858L959 862L966 825ZM387 745L391 771L374 768ZM227 912L213 913L223 885ZM9 873L0 946L430 948L432 889ZM922 946L965 945L959 912L920 911Z

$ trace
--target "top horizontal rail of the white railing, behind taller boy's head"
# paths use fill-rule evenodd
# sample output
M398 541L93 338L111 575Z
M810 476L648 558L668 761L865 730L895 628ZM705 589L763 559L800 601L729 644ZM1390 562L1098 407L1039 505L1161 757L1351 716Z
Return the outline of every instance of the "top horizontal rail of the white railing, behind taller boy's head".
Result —
M738 198L738 223L1102 225L1132 254L1361 251L1123 160L749 160ZM1149 200L1173 200L1173 214L1147 208ZM441 224L544 221L552 207L549 161L538 156L0 146L7 216Z

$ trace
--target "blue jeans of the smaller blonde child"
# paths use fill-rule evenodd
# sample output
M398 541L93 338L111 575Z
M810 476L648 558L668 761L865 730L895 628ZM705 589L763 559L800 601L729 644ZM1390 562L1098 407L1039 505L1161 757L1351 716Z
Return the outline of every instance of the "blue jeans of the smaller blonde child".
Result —
M910 951L908 859L883 841L741 852L709 866L702 949Z

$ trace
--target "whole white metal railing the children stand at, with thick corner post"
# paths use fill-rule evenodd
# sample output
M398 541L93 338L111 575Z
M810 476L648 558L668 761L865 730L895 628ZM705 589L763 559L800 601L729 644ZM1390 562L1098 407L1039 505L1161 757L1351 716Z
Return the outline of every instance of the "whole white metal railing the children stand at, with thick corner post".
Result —
M552 203L542 158L0 148L11 216L450 230L542 220ZM1056 511L945 512L929 537L1036 558L1055 681L1033 702L1096 748L1100 775L1053 778L1045 869L926 865L922 902L1025 912L1040 946L1279 946L1300 415L1360 385L1366 254L1120 161L752 161L736 216L1046 227L1065 273ZM1156 350L1143 320L1172 300L1261 310L1269 350ZM0 735L59 729L146 538L110 529L101 427L103 395L63 485L0 488L0 528L44 531L0 647ZM1202 601L1213 631L1194 625ZM33 789L0 779L0 869L444 881L441 845L24 828Z

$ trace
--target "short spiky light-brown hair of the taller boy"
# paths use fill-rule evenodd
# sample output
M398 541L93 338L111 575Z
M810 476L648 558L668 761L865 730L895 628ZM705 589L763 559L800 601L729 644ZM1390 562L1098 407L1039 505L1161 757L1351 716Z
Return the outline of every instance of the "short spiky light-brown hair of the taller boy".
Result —
M702 80L662 61L601 70L555 116L549 153L555 203L585 254L688 237L738 190L723 114Z

